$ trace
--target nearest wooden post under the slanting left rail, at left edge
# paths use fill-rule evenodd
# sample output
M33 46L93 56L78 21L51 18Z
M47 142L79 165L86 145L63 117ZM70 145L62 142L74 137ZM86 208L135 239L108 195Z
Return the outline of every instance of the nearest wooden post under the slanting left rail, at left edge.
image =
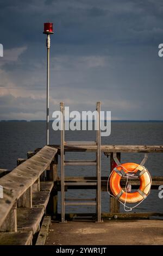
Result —
M12 206L8 216L5 218L5 221L3 222L2 226L0 227L1 232L6 231L17 231L17 215L16 215L16 207L17 203Z

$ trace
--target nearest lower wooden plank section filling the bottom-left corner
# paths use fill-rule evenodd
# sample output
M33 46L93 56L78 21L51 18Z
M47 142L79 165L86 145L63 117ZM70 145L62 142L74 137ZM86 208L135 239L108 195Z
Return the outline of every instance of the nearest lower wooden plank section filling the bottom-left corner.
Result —
M32 245L32 239L32 231L0 233L0 245Z

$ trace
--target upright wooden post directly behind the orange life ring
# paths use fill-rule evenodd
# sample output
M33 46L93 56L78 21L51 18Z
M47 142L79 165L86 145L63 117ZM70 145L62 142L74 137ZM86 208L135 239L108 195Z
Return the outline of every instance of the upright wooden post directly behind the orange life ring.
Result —
M121 153L116 153L117 159L121 161ZM113 159L113 154L110 155L110 173L112 172L112 169L114 169L117 166L116 162ZM120 212L120 202L116 200L114 197L110 196L110 213L112 212Z

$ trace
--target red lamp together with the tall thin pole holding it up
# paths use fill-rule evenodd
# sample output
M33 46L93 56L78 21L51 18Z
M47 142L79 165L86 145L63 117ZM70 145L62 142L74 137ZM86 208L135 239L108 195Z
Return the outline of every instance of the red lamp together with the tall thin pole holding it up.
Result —
M46 144L49 144L49 57L50 57L50 46L51 39L50 35L53 34L53 23L44 23L43 34L47 35L46 47L47 47L47 111L46 111Z

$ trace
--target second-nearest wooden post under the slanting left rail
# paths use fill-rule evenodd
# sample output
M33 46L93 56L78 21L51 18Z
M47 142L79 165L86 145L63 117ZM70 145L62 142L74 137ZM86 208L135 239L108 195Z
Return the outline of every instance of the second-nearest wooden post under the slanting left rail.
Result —
M32 186L17 200L17 207L32 208Z

